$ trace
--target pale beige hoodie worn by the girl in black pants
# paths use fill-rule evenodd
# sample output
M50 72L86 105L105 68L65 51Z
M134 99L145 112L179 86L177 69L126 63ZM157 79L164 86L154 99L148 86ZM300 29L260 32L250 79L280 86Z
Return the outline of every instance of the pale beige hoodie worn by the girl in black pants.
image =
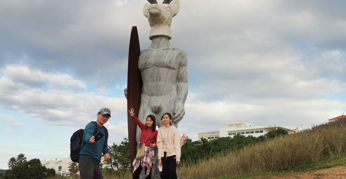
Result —
M175 155L176 161L180 161L180 135L175 126L172 125L169 128L162 126L158 129L157 150L157 157L160 160L163 157L163 152L166 151L167 157Z

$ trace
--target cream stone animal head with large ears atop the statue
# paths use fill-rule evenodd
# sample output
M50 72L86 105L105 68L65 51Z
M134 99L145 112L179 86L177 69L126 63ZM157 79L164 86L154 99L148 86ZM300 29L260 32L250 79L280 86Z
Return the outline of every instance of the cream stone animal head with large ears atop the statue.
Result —
M172 18L179 12L179 0L164 0L157 4L156 0L148 0L151 4L144 4L143 13L148 18L150 29L149 39L155 36L166 36L170 40Z

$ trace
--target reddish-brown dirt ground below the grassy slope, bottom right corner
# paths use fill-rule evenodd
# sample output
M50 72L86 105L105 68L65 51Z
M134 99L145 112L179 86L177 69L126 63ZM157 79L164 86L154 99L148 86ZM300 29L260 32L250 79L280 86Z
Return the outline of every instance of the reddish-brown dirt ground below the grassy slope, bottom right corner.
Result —
M281 176L257 176L252 179L346 179L346 166L337 166L328 169L321 169L309 172L285 173Z

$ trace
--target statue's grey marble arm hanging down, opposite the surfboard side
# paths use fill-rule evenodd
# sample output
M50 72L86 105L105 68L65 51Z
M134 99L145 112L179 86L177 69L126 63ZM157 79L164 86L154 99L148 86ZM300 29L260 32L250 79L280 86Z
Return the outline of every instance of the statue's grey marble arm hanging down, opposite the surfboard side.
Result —
M176 106L173 111L173 122L178 123L185 115L184 103L186 101L186 96L188 96L188 71L186 69L188 65L188 60L186 53L181 52L179 56L181 61L178 69L178 74L176 78L176 91L177 91L177 100Z

